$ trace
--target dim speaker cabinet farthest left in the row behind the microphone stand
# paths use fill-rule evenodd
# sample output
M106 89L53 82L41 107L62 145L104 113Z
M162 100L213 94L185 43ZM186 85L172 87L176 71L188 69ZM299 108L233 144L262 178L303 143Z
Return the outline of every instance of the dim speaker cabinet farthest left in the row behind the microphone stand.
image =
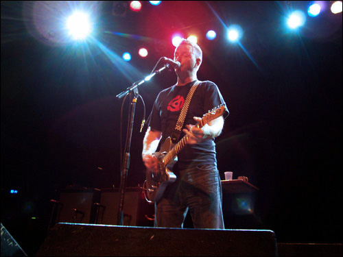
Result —
M61 189L60 211L56 222L95 223L95 204L100 201L100 189Z

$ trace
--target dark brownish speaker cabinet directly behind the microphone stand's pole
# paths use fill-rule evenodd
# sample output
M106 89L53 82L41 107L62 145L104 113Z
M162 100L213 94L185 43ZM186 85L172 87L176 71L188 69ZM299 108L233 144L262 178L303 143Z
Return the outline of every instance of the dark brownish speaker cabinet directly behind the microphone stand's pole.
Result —
M120 194L118 188L101 188L101 206L98 222L117 225ZM123 205L123 225L152 226L154 205L147 204L139 187L127 187Z

